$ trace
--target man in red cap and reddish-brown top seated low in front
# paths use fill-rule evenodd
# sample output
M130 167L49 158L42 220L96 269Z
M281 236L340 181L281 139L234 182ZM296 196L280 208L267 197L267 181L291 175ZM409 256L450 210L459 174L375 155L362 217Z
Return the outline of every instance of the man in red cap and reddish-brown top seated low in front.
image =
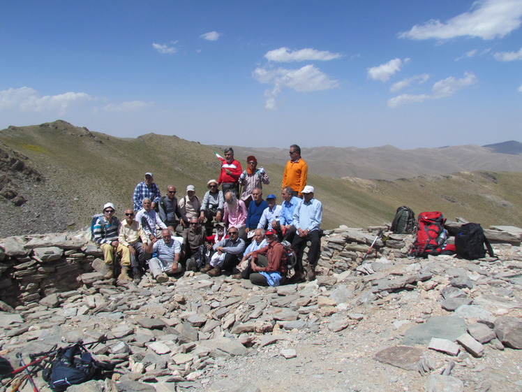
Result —
M277 242L276 232L267 230L264 233L268 245L253 252L251 260L250 281L258 286L279 286L286 282L286 251Z

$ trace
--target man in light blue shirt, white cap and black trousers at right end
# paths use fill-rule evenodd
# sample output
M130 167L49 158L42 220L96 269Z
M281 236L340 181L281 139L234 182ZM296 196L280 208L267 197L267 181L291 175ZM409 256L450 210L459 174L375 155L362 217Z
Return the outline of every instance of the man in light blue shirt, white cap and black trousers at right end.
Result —
M304 275L303 252L306 241L310 240L308 249L308 268L306 268L306 280L315 280L315 266L319 260L321 250L320 226L322 222L322 204L313 198L313 187L307 185L303 189L303 200L295 206L293 225L296 228L296 235L292 242L292 248L297 258L297 271Z

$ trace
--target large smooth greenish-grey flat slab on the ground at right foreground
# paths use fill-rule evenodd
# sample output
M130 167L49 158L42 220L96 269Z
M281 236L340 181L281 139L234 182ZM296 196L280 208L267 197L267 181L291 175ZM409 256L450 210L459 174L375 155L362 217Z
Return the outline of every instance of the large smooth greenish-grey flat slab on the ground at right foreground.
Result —
M404 334L403 344L413 346L415 344L428 344L432 337L440 339L456 340L468 330L465 321L455 316L431 317L424 324L412 326Z

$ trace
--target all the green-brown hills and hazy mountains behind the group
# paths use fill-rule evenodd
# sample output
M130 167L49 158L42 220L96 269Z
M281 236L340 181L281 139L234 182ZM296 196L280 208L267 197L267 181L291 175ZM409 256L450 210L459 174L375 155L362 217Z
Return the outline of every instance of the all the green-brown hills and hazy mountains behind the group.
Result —
M175 184L182 197L194 184L202 198L207 181L218 177L214 150L220 151L154 133L115 138L61 120L10 126L0 131L0 237L87 226L107 201L122 218L147 171L162 193ZM279 196L288 149L234 150L242 164L248 154L258 157L271 178L264 194ZM449 219L462 216L485 226L521 222L522 162L516 155L467 145L408 151L317 147L304 149L303 156L308 183L324 205L324 228L380 225L392 220L399 205L417 214L441 210ZM463 173L448 174L452 170Z

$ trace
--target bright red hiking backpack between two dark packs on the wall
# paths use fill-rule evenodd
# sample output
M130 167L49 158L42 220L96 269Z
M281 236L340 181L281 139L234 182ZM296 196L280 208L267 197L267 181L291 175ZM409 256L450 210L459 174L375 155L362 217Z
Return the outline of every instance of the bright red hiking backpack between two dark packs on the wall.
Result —
M413 242L411 256L428 257L441 254L447 240L444 229L446 218L442 212L421 212L418 217L417 238Z

